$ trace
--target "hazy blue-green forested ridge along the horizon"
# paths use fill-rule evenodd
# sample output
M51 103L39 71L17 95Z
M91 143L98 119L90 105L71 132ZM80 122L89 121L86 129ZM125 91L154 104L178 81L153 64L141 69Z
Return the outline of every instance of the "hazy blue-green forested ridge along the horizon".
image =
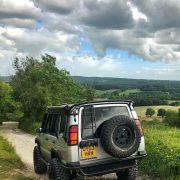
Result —
M73 78L98 90L137 88L142 91L180 92L180 81L82 76L74 76Z

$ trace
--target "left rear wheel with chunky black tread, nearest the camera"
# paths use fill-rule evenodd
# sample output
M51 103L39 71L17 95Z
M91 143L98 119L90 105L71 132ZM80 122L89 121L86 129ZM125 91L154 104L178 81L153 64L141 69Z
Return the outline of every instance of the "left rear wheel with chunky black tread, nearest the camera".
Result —
M70 180L71 175L67 169L65 169L57 158L51 160L49 179L52 180Z

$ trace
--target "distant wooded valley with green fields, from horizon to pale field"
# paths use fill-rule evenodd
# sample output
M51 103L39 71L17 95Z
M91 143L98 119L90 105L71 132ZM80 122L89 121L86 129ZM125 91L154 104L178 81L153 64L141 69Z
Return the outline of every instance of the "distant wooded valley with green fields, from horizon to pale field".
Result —
M73 77L97 89L98 99L131 99L136 106L180 105L180 81ZM176 102L169 103L169 100Z

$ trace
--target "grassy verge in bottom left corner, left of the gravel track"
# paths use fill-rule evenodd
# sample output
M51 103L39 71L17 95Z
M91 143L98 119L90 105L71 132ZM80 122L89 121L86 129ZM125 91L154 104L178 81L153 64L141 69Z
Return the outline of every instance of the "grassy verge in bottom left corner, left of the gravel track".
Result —
M17 156L14 148L6 139L0 136L0 179L32 180L24 174L25 166Z

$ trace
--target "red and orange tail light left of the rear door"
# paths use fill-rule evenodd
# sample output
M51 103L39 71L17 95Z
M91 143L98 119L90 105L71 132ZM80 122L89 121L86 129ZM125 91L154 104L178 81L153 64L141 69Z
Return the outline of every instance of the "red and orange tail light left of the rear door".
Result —
M78 144L78 126L73 125L69 128L69 145L77 145Z

